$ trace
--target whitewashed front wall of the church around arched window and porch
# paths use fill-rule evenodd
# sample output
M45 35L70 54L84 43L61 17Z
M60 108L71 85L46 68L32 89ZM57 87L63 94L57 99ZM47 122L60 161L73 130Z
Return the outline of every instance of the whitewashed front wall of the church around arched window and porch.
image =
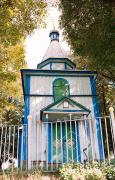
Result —
M57 77L32 76L30 94L53 95L52 86L55 79L57 79ZM91 95L90 79L88 77L64 77L64 79L66 79L70 84L71 95ZM94 116L92 97L72 97L72 99L89 108L92 111L91 115ZM45 156L43 153L41 154L41 149L45 149L45 144L42 146L42 142L47 142L47 132L45 128L43 128L43 131L41 128L40 110L53 102L53 97L30 97L30 114L32 115L32 123L28 144L28 148L31 149L28 153L29 160L41 160L41 158L45 160ZM97 149L98 144L95 121L93 121L92 130L93 138L95 139L94 146L95 149ZM95 152L95 156L98 157L98 149Z

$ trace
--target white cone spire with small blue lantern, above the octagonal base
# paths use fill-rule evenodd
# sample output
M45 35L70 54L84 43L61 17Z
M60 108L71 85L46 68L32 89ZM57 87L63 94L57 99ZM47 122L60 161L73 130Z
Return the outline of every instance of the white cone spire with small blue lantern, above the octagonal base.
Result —
M59 43L59 31L55 29L52 30L49 34L51 39L50 45L42 59L42 61L47 60L48 58L67 58L67 55Z

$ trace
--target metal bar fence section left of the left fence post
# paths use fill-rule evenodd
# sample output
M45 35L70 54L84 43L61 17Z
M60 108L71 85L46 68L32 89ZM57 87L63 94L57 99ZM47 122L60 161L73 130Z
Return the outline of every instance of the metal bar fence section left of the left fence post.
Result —
M22 169L25 129L27 125L0 125L0 171Z

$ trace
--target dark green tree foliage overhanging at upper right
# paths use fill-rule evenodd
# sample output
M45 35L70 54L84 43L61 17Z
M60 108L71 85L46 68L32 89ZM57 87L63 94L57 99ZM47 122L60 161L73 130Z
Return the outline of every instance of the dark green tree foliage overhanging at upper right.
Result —
M60 9L60 25L84 68L88 63L115 81L114 1L60 0Z

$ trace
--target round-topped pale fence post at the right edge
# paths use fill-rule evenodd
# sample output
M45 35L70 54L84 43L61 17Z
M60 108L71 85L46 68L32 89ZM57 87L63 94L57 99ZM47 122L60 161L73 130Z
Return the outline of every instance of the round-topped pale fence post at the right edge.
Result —
M111 134L113 138L113 149L114 149L114 156L115 156L115 116L114 116L114 108L109 108L110 112L110 123L111 123Z

